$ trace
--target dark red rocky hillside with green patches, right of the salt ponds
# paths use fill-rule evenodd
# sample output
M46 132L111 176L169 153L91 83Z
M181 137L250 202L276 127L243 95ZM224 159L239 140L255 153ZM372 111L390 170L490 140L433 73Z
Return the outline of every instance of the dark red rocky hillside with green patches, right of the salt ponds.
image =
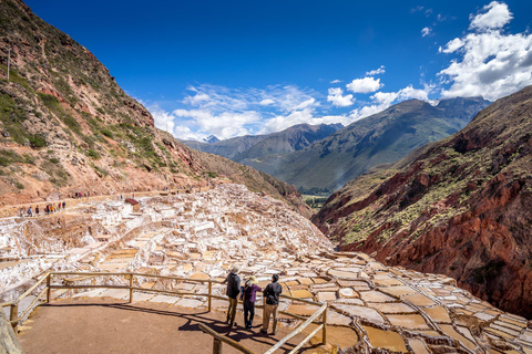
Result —
M332 195L314 222L341 250L444 273L532 317L532 86Z

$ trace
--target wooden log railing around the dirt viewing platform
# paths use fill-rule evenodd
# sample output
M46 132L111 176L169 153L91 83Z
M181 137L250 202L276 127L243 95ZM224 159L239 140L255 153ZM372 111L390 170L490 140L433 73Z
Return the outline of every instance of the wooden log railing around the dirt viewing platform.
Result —
M125 277L129 279L129 284L127 285L95 285L95 284L88 284L88 285L59 285L59 284L52 284L52 277L64 277L64 275L80 275L80 277ZM190 292L190 291L172 291L172 290L160 290L160 289L144 289L140 287L134 287L134 279L135 277L143 277L143 278L158 278L158 279L165 279L165 280L171 280L171 281L186 281L186 282L197 282L197 283L207 283L207 293L196 293L196 292ZM31 304L24 310L23 313L20 315L18 314L19 312L19 303L22 301L24 298L30 295L39 285L45 282L45 287L39 292L37 298L31 302ZM207 296L207 309L208 312L213 310L213 299L219 299L219 300L225 300L228 301L227 296L219 296L213 294L213 283L214 284L221 284L221 281L212 280L212 279L191 279L191 278L182 278L182 277L166 277L166 275L158 275L158 274L147 274L147 273L132 273L132 272L45 272L39 280L30 288L28 289L24 293L22 293L17 300L11 301L11 302L6 302L0 304L0 308L7 308L10 306L10 322L13 329L17 332L17 326L19 323L25 317L25 315L29 314L29 312L33 309L33 306L37 304L37 302L44 295L47 294L45 302L49 303L51 301L51 291L53 289L123 289L123 290L129 290L129 302L133 302L133 293L134 291L142 291L142 292L155 292L155 293L164 293L164 294L171 294L171 295L194 295L194 296ZM298 315L295 313L290 313L287 311L278 311L280 314L301 320L304 321L297 329L295 329L293 332L290 332L288 335L286 335L284 339L282 339L279 342L277 342L274 346L272 346L267 352L264 354L272 354L278 348L280 348L286 342L288 342L290 339L294 336L298 335L299 333L303 332L310 323L317 324L318 326L307 335L296 347L294 347L289 353L293 354L296 351L298 351L300 347L303 347L310 339L316 335L319 331L321 331L321 343L325 344L327 342L327 303L321 303L321 302L315 302L306 299L298 299L285 294L280 294L282 298L289 299L293 301L297 302L304 302L313 305L319 306L319 309L309 317ZM263 298L263 301L265 301L265 298ZM258 309L264 309L265 305L256 305ZM317 317L321 315L321 321L318 322ZM226 343L234 348L241 351L242 353L246 354L257 354L246 347L245 345L242 345L235 341L233 341L229 337L226 337L224 335L221 335L209 329L208 326L204 324L200 324L200 329L212 335L214 337L214 344L213 344L213 353L214 354L221 354L222 353L222 345L223 343Z

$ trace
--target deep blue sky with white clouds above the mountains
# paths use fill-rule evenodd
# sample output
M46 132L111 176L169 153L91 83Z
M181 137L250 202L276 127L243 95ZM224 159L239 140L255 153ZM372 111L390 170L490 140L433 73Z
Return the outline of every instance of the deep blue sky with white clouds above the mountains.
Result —
M351 124L532 84L532 1L25 0L177 138Z

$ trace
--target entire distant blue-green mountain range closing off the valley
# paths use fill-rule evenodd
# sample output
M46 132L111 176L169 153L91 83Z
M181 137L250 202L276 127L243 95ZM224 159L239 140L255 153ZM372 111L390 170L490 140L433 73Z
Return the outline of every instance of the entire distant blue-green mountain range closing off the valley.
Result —
M305 124L214 144L184 143L252 166L304 192L330 194L375 166L395 163L458 132L489 104L482 97L442 100L437 105L410 100L347 127Z

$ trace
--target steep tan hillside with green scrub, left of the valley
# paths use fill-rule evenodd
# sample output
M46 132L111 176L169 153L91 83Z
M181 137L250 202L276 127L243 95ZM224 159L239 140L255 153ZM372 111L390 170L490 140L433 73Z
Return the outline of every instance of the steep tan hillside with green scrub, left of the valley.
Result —
M295 188L155 128L91 52L20 0L0 2L0 206L225 176L309 214Z

